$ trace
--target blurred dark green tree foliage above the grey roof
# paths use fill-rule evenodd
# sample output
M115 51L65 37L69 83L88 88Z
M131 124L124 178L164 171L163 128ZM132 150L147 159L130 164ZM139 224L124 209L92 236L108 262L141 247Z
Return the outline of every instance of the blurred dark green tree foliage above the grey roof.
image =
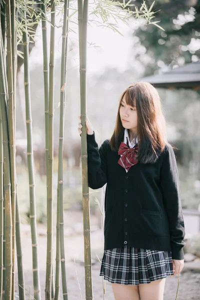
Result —
M151 2L152 0L146 0L149 5ZM137 43L146 49L145 54L136 55L146 67L144 75L152 74L160 68L181 66L199 60L199 0L158 0L155 9L155 20L162 20L165 31L155 26L140 26L134 32L134 35L139 37ZM145 62L144 57L147 56L150 59Z

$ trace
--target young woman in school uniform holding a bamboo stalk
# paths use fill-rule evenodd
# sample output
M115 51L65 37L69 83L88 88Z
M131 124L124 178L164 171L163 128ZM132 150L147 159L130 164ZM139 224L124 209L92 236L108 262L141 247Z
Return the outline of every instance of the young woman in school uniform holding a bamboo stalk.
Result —
M79 116L80 119L80 116ZM184 221L173 147L157 90L136 82L121 94L110 139L98 149L86 118L88 185L105 183L100 274L116 300L162 300L165 278L184 264ZM78 123L81 134L82 124Z

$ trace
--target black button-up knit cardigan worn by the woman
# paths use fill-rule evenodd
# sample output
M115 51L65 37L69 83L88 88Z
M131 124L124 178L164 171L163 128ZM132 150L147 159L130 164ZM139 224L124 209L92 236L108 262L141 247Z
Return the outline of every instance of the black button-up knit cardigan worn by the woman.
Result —
M120 155L105 139L98 149L87 134L88 186L105 183L104 250L123 245L171 251L183 259L184 221L173 148L165 145L155 163L137 162L126 173Z

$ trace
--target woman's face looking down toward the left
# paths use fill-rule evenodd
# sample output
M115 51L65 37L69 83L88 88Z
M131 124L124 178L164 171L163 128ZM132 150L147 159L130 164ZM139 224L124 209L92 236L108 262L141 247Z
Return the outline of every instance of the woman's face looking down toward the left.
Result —
M134 100L134 105L135 105L135 100ZM132 132L136 131L137 129L136 107L126 104L125 95L123 96L120 103L119 115L120 115L122 126L124 128L130 129ZM125 122L123 119L126 120L127 122Z

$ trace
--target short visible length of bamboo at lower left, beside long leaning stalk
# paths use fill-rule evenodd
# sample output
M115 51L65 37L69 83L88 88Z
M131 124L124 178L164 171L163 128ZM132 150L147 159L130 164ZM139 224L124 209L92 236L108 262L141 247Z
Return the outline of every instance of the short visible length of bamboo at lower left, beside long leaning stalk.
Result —
M24 285L23 261L22 261L22 250L21 250L20 215L19 215L18 198L17 198L17 187L16 187L15 229L16 229L16 255L17 255L19 299L25 300L25 285Z

